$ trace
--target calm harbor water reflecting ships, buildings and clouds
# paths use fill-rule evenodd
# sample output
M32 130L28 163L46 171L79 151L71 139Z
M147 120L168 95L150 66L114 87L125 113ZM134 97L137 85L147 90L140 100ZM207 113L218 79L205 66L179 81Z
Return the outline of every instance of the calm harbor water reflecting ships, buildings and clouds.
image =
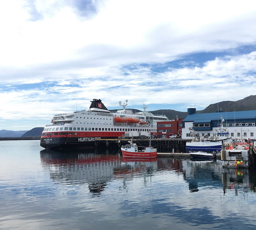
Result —
M254 171L0 141L0 229L254 229Z

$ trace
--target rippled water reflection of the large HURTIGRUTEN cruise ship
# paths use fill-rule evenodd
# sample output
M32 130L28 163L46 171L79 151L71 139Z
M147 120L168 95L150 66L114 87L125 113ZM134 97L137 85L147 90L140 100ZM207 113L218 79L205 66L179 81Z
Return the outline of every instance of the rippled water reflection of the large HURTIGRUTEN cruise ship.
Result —
M121 167L121 157L89 151L92 150L66 153L43 150L40 151L41 165L58 184L88 184L92 196L100 196L115 176L114 169Z

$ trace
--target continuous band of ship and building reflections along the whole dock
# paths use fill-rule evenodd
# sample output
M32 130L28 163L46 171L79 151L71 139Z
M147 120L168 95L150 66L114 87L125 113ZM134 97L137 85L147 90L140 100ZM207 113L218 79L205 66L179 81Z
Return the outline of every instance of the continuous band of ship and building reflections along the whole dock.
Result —
M50 177L58 184L88 185L92 197L101 196L108 183L143 177L144 183L151 182L154 174L172 171L188 184L190 192L200 189L223 187L227 189L243 188L255 190L255 173L249 174L248 169L226 169L221 167L220 160L184 160L173 158L127 158L120 152L103 152L97 149L83 152L57 152L42 150L41 165L49 170Z

